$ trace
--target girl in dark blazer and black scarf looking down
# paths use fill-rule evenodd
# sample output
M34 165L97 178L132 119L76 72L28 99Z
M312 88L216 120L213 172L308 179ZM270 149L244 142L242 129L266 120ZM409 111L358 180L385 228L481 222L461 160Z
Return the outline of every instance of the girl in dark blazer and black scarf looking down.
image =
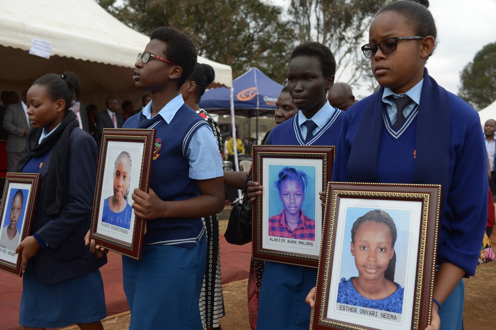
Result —
M82 242L91 221L97 150L68 110L79 90L77 75L65 72L42 76L27 93L34 129L16 171L40 173L41 181L33 235L16 250L22 251L24 329L75 323L81 330L103 330L100 320L107 315L98 270L107 259L98 259Z

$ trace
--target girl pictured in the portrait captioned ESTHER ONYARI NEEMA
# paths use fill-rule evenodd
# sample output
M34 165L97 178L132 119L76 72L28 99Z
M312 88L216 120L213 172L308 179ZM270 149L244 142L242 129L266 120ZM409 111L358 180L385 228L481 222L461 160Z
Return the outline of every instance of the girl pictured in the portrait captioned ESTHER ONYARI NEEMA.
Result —
M403 288L394 282L396 225L388 213L372 210L351 229L351 255L358 277L341 279L337 302L401 313Z

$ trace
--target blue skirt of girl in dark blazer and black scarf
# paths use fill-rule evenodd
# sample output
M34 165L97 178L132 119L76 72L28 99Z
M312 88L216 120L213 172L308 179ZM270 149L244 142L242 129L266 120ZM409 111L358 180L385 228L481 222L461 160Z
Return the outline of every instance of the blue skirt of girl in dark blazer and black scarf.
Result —
M33 269L22 275L21 326L61 328L100 321L106 316L100 270L55 284L41 283Z

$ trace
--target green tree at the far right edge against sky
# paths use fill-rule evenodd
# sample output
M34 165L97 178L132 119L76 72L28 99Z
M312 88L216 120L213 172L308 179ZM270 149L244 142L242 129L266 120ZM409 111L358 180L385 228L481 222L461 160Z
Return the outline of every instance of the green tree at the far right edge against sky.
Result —
M487 44L460 72L458 95L481 110L496 100L496 42Z

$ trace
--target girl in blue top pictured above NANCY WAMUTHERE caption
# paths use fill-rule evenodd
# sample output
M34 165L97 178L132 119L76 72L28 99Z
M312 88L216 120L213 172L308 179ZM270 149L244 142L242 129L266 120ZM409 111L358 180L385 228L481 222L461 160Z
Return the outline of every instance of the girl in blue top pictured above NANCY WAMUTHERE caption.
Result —
M127 202L130 173L131 156L127 151L122 151L114 163L114 195L104 200L102 213L103 222L125 229L129 229L132 215L132 207Z

